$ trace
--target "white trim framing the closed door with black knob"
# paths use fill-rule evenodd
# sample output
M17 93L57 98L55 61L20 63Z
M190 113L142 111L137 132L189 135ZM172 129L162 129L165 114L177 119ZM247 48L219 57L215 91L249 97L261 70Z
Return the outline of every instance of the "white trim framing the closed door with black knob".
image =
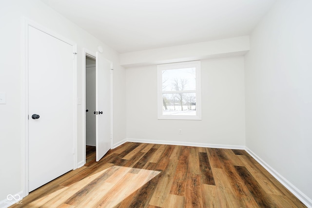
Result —
M54 31L43 27L42 25L26 18L22 18L22 25L21 25L21 183L22 183L22 197L25 197L29 194L29 135L28 135L28 27L33 27L41 32L44 32L54 38L57 38L73 47L73 70L74 70L74 77L73 77L73 93L74 93L74 100L73 100L73 112L74 112L74 128L73 128L73 164L74 169L77 168L77 43L60 36L59 34L55 33ZM49 50L49 49L47 49Z

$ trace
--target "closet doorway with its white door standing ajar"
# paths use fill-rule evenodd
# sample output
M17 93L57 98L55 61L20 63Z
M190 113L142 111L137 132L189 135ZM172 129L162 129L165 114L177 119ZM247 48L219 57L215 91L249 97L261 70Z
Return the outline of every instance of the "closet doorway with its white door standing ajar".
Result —
M85 152L96 147L96 161L111 149L112 65L100 52L85 52Z

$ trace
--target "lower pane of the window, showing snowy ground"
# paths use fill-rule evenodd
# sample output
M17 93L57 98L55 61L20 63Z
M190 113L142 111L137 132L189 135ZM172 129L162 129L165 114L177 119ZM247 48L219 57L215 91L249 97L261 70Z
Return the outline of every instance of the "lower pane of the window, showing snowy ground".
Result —
M196 115L196 93L162 95L163 115Z

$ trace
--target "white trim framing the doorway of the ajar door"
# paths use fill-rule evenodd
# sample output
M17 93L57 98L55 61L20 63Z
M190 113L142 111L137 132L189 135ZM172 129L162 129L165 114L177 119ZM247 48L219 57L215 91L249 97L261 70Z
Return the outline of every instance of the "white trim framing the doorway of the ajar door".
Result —
M78 168L82 167L84 164L86 164L86 56L96 58L96 52L88 50L86 48L83 48L82 50L82 56L83 56L83 66L82 66L82 108L81 108L81 113L82 113L82 137L83 137L83 142L82 142L82 149L83 149L83 159L82 161L78 162ZM113 69L113 62L111 62L111 69ZM111 82L111 149L113 148L113 70L111 70L111 77L110 77L110 82Z

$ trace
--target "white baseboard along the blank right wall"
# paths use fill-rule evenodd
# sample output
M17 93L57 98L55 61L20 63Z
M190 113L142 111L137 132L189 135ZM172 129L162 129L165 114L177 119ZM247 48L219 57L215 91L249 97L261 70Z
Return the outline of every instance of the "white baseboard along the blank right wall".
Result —
M289 182L286 178L284 178L281 174L279 174L276 170L274 170L271 166L269 166L266 162L264 162L258 155L256 155L253 151L251 151L248 147L245 150L261 165L263 168L268 170L274 178L276 178L286 189L290 190L293 195L295 195L303 204L305 204L308 208L312 208L312 200L302 193L299 189L297 189L291 182Z

